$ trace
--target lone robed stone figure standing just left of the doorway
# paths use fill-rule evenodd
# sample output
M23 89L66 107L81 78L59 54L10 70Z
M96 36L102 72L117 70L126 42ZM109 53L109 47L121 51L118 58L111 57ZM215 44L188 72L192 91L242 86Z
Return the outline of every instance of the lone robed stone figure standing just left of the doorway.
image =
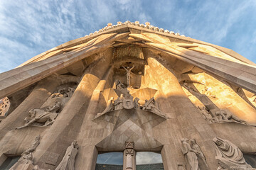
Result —
M67 148L65 155L55 170L75 170L75 156L78 154L78 142L74 141Z

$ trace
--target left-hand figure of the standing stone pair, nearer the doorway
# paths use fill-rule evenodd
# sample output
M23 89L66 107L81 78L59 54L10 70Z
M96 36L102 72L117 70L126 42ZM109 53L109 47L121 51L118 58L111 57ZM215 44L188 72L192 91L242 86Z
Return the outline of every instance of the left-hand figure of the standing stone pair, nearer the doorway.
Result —
M200 170L198 164L198 157L196 156L195 151L191 148L191 145L189 145L188 139L183 138L181 140L181 143L181 151L185 155L187 170Z

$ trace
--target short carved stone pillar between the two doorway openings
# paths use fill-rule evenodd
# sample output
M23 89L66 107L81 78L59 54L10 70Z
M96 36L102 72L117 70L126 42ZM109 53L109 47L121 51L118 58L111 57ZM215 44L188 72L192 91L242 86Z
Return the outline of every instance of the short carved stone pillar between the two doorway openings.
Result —
M125 142L123 170L136 170L134 142Z

